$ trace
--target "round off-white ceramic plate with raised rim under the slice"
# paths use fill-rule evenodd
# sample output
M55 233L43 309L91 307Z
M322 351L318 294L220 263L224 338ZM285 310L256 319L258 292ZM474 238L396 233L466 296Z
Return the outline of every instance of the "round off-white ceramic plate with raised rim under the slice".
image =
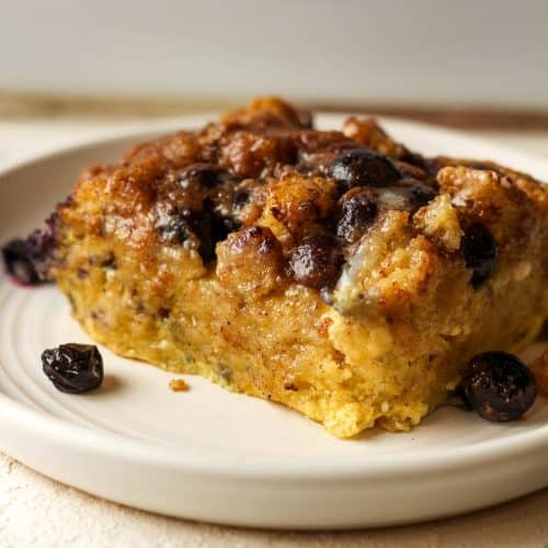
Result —
M429 126L386 126L425 153L491 158L548 180L548 162L533 157ZM80 167L172 127L148 126L4 171L0 240L39 226ZM189 392L172 392L173 375L106 349L103 388L64 395L43 375L39 354L89 338L54 286L24 289L0 276L0 446L65 483L163 514L284 528L409 523L548 484L548 404L540 399L512 424L442 409L409 434L340 441L298 413L197 377L186 377Z

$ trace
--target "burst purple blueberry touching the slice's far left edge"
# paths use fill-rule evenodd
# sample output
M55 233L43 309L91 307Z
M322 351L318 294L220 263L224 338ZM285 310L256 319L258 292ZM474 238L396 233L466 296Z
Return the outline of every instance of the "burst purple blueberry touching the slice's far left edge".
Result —
M44 230L35 230L26 239L16 238L2 247L8 274L22 285L36 285L50 279L48 266L55 250L55 215Z

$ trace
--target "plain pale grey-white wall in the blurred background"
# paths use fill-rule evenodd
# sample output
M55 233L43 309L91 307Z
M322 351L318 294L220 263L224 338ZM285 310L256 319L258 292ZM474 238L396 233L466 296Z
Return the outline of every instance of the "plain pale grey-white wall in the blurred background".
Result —
M0 90L548 109L548 0L0 0Z

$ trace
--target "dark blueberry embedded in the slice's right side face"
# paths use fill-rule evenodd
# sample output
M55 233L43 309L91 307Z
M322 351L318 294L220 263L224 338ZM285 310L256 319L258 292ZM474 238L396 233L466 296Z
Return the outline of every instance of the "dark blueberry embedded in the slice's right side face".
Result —
M496 241L484 225L473 222L465 228L461 253L466 266L473 271L472 285L481 285L493 273L496 262Z

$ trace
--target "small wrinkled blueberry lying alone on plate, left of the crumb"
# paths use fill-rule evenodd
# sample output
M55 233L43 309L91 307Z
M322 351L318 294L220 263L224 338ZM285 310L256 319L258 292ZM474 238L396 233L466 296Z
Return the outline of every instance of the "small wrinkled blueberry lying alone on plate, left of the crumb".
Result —
M45 350L42 367L61 392L88 392L103 381L103 358L98 347L91 344L68 343Z

